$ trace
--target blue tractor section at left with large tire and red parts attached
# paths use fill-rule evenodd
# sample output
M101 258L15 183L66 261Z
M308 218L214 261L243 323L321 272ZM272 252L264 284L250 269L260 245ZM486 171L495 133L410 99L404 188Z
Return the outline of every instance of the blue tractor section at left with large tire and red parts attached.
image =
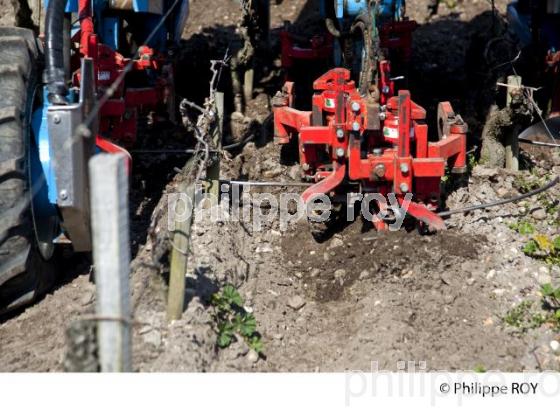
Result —
M0 313L91 251L87 164L126 152L143 112L173 113L188 0L45 0L44 36L0 28Z

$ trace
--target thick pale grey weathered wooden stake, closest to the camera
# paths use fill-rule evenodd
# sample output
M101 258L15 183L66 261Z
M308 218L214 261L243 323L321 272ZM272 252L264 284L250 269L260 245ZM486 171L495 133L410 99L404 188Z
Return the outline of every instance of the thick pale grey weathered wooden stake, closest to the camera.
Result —
M128 171L123 154L89 161L96 318L102 372L132 370Z

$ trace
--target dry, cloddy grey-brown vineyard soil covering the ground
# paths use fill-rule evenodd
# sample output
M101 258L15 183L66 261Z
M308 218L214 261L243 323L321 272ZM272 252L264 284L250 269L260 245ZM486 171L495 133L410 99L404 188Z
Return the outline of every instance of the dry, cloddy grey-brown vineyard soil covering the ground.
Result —
M473 102L486 101L487 95L485 83L477 80L480 73L468 67L473 39L479 41L480 32L492 24L488 2L464 1L453 10L442 4L431 18L427 3L408 6L409 16L422 24L414 37L413 98L429 112L437 101L450 100L465 113L476 141L485 106L475 110ZM503 13L506 1L496 4ZM302 21L300 12L314 5L273 2L273 27L283 20ZM183 77L201 73L208 59L223 57L235 43L239 15L234 1L191 2L183 52L196 51L197 57L184 63ZM270 80L257 85L246 113L246 124L252 126L245 133L254 141L224 158L224 179L298 178L297 165L281 163L279 147L270 142L269 98L281 84L277 67L271 67ZM206 85L190 91L187 83L179 87L182 95L197 99ZM156 136L156 146L167 146L169 138L172 145L181 143L175 132L160 135L148 128L146 133ZM560 171L560 157L551 151L527 152L524 158L526 170L517 173L474 167L467 186L448 191L446 206L510 197ZM447 231L428 236L404 230L376 233L355 222L318 243L307 223L281 230L278 221L271 221L257 231L248 222L213 221L211 210L201 210L193 227L186 310L168 325L167 199L182 179L173 169L183 163L182 158L135 158L131 282L136 371L560 369L559 356L550 348L551 341L559 340L557 332L547 326L521 332L503 321L521 301L537 302L541 284L558 285L560 269L526 256L522 248L530 236L510 228L529 221L539 232L558 235L558 211L549 205L560 194L558 186L521 203L454 215ZM246 206L260 209L255 203ZM543 210L548 211L544 216ZM65 330L94 305L95 286L87 271L87 264L70 269L72 274L43 300L4 318L0 370L64 369ZM260 357L250 354L243 341L216 347L209 299L226 283L239 289L246 310L257 319L264 341Z

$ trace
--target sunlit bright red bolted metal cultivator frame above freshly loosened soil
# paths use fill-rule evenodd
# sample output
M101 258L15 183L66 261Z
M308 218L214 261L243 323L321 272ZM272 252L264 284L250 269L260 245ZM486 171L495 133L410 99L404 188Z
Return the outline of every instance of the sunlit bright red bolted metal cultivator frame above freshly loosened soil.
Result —
M413 193L409 214L441 229L443 221L431 212L438 207L441 177L446 166L466 171L467 126L451 105L440 104L441 138L429 142L426 111L408 91L383 106L362 97L342 68L330 70L313 88L312 111L290 106L291 83L274 107L275 141L297 138L302 169L317 182L302 194L304 201L330 194L344 181L360 182L365 191L395 193L399 201Z

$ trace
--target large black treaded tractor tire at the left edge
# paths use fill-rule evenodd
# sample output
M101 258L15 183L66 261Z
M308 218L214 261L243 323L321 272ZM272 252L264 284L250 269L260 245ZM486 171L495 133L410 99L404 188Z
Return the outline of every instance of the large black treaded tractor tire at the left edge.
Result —
M0 313L32 302L54 282L41 256L29 177L31 114L40 78L31 30L0 27Z

